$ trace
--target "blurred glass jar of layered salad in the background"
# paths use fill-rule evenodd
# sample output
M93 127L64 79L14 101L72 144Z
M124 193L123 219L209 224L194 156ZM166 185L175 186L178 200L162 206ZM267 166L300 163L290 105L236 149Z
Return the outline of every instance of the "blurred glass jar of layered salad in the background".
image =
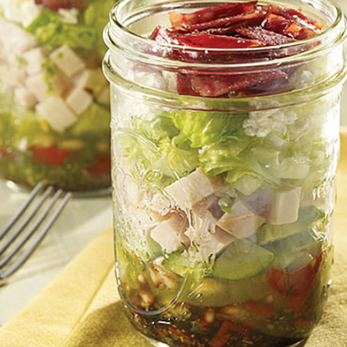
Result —
M110 187L102 31L115 3L0 2L0 176L74 192Z

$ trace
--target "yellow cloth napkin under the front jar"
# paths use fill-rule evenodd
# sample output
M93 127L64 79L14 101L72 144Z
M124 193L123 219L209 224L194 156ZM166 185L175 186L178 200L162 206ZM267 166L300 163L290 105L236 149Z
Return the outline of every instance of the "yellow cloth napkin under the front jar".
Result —
M328 307L306 347L347 346L347 129L341 130L337 187L333 282ZM122 310L112 245L111 230L96 237L37 298L1 328L0 346L148 347Z

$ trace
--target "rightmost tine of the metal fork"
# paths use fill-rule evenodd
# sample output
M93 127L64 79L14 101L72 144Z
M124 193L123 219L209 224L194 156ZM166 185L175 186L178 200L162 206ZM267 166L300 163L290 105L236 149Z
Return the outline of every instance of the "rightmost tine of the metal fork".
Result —
M60 190L60 189L59 189ZM59 191L58 191L59 192ZM57 193L58 193L57 192ZM62 191L61 191L62 192ZM60 192L60 194L61 194ZM60 196L60 194L56 194L58 196ZM55 196L56 196L55 195ZM24 262L26 262L26 260L28 260L28 257L31 256L31 254L35 251L35 249L37 248L37 246L40 244L40 242L42 241L42 239L46 236L46 233L49 231L49 229L51 228L51 226L53 225L53 223L56 221L56 219L59 217L60 213L62 212L62 210L65 208L65 205L69 202L70 198L71 198L72 194L71 193L67 193L65 195L65 197L62 199L62 201L60 201L58 207L56 208L56 210L53 212L51 218L47 221L47 223L44 225L44 228L42 228L42 230L40 230L40 232L37 235L37 238L35 239L35 242L33 242L33 244L31 244L30 247L28 247L26 249L26 251L24 251L24 253L22 253L22 255L12 264L8 267L8 269L6 271L0 272L0 280L7 278L8 276L11 276L12 273L14 273L15 271L17 271L17 269L19 269L20 266L22 266L22 264L24 264ZM54 198L54 196L53 196ZM51 200L53 200L53 198ZM58 197L56 198L56 200L58 199ZM56 200L54 202L56 202ZM53 205L53 203L52 203ZM43 216L46 217L46 213L44 214L44 212L42 212L42 214L40 215L40 217Z

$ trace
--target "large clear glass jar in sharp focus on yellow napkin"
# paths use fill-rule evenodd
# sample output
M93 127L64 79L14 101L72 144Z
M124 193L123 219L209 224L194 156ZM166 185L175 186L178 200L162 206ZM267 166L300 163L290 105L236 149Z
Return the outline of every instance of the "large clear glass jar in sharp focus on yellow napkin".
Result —
M105 28L119 293L158 346L294 346L330 286L346 22L277 1L325 28L270 48L149 39L219 4L121 0Z

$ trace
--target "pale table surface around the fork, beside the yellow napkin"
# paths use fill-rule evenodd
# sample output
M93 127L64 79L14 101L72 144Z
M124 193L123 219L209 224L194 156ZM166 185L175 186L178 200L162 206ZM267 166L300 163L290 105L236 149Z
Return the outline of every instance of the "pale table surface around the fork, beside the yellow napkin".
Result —
M346 0L335 0L347 12ZM341 103L341 124L347 125L347 83ZM0 181L0 226L25 200ZM51 228L40 248L22 269L0 287L0 326L15 316L78 254L96 235L112 223L110 196L74 198Z

